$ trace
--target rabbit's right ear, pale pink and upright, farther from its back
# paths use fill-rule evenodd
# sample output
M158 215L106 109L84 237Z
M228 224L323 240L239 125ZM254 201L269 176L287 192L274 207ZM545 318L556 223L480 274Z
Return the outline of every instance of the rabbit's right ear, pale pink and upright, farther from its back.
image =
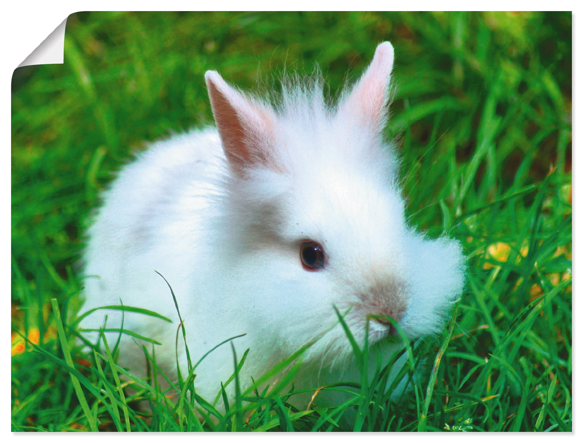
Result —
M342 100L338 117L343 121L381 131L385 124L387 89L394 50L388 41L377 46L373 61L352 91Z

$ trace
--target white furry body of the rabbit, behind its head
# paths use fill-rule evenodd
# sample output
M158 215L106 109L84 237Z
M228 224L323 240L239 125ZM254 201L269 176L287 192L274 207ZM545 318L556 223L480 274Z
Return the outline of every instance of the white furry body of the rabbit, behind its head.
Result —
M214 128L154 143L122 168L104 192L103 206L88 231L83 311L123 303L157 312L173 323L131 312L122 319L120 311L106 310L83 319L83 329L99 329L105 315L106 329L118 329L123 321L125 330L162 344L156 346L156 361L168 377L176 377L177 358L184 374L185 348L182 343L175 347L180 320L170 289L157 271L174 291L192 358L228 337L252 332L238 302L230 297L236 294L230 265L222 263L223 255L216 252L217 245L224 243L229 180ZM113 345L118 332L108 334ZM93 335L96 342L96 333L86 335ZM239 339L238 346L249 347L248 337ZM120 350L120 365L146 377L145 356L131 336L121 336ZM199 365L196 379L201 395L213 395L219 381L229 377L230 352L223 346ZM264 369L248 366L258 372Z

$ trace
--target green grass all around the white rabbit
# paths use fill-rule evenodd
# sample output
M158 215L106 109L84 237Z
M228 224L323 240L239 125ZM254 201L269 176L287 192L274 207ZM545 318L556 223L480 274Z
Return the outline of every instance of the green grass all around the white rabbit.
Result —
M353 395L307 411L289 403L303 350L230 405L221 386L193 391L202 356L167 398L155 345L146 380L115 364L116 343L83 351L90 210L143 142L212 122L203 73L277 87L283 68L317 62L335 97L383 40L410 222L468 257L455 321L403 349L400 377L426 370L402 398L366 349L354 353L375 376L328 386ZM349 410L361 431L571 430L571 13L77 13L65 64L19 68L12 90L13 431L334 431Z

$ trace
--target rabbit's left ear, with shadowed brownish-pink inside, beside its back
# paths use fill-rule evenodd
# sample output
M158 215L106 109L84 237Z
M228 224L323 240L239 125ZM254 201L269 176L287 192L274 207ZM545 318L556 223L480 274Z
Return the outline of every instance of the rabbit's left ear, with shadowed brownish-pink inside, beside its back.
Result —
M210 106L231 168L238 175L260 164L279 170L273 159L273 111L238 93L216 71L207 71L205 79Z

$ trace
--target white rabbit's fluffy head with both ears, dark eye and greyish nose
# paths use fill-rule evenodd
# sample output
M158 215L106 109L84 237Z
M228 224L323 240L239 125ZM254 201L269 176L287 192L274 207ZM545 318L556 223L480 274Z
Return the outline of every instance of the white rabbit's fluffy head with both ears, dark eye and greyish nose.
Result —
M241 317L267 342L275 336L291 350L323 335L312 353L337 358L350 346L334 305L360 342L371 315L417 337L437 331L461 293L461 245L406 224L382 140L393 54L380 44L335 107L317 81L285 86L274 107L206 73L231 171L225 269ZM371 342L391 333L385 319L370 321Z

